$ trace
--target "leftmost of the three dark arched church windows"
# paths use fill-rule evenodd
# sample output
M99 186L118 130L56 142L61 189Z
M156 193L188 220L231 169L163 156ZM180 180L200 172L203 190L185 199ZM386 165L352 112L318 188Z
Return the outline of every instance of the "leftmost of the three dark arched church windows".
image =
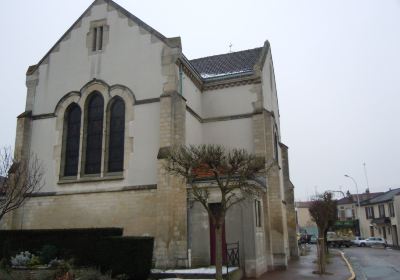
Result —
M81 131L81 108L75 103L65 111L64 176L76 176L79 162L79 140Z

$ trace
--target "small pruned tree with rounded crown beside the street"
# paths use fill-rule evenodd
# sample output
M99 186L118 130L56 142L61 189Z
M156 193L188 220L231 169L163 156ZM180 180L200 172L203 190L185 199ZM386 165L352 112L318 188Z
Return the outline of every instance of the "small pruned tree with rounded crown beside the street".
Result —
M331 192L315 196L309 208L310 215L318 227L317 262L318 273L326 272L326 234L337 219L337 202Z

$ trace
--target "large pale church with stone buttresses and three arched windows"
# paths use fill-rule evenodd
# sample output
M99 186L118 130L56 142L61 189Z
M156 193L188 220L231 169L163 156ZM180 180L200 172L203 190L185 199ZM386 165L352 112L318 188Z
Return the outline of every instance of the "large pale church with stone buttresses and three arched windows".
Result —
M167 19L166 19L167 20ZM297 257L288 147L281 143L271 49L189 60L111 0L96 0L26 73L15 157L35 153L45 186L3 229L122 227L153 236L159 268L211 261L206 212L163 168L173 145L222 144L277 162L260 197L226 217L246 276ZM189 253L190 252L190 253Z

